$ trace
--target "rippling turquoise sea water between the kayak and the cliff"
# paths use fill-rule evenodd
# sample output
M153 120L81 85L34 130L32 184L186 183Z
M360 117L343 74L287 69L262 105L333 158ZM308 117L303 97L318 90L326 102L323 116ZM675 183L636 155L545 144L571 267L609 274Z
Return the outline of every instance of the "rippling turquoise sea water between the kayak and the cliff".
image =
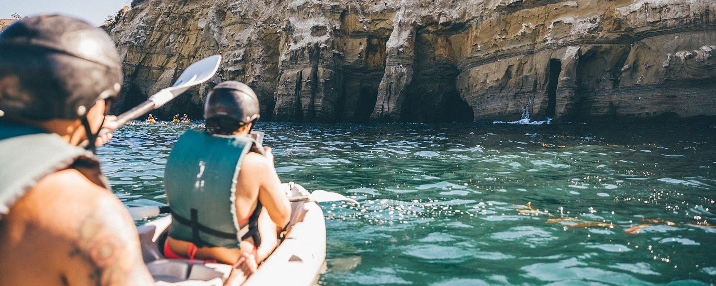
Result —
M202 126L132 122L100 147L125 204L165 202L163 166L185 128ZM321 285L716 282L713 126L256 129L282 181L361 202L321 204Z

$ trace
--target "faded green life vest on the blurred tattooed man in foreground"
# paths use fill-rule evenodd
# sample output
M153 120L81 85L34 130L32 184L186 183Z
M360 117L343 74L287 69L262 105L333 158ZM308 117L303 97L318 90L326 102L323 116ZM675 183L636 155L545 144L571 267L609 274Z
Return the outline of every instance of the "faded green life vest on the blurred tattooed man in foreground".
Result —
M94 154L42 129L0 122L0 219L48 174L81 168L87 179L107 188Z

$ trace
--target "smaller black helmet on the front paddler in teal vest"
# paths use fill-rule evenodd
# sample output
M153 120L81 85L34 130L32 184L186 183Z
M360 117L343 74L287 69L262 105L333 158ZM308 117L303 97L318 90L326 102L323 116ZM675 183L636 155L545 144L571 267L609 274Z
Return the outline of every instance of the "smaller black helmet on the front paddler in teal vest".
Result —
M207 121L207 129L210 133L226 134L230 131L233 132L244 124L256 122L259 117L258 97L256 97L253 89L243 84L243 82L222 82L211 89L211 92L206 96L204 119ZM226 127L217 128L218 126L211 126L213 122L217 121L226 123L226 119L231 119L229 120L230 122L236 122L236 128L226 130Z

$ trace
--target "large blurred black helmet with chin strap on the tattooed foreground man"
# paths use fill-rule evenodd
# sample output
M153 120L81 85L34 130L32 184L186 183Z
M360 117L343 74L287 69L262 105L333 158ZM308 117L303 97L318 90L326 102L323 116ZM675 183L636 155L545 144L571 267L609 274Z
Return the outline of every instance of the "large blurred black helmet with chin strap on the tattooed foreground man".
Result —
M122 66L102 29L68 16L34 16L0 34L0 80L6 79L18 88L0 90L1 113L39 121L82 119L88 149L94 149L97 134L89 129L87 111L117 97Z

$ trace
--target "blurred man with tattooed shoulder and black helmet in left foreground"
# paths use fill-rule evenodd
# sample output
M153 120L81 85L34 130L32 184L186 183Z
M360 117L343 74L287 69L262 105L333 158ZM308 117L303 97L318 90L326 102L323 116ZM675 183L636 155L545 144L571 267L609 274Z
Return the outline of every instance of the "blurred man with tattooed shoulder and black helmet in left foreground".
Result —
M153 282L92 152L121 84L114 44L83 21L37 16L0 34L0 285Z

